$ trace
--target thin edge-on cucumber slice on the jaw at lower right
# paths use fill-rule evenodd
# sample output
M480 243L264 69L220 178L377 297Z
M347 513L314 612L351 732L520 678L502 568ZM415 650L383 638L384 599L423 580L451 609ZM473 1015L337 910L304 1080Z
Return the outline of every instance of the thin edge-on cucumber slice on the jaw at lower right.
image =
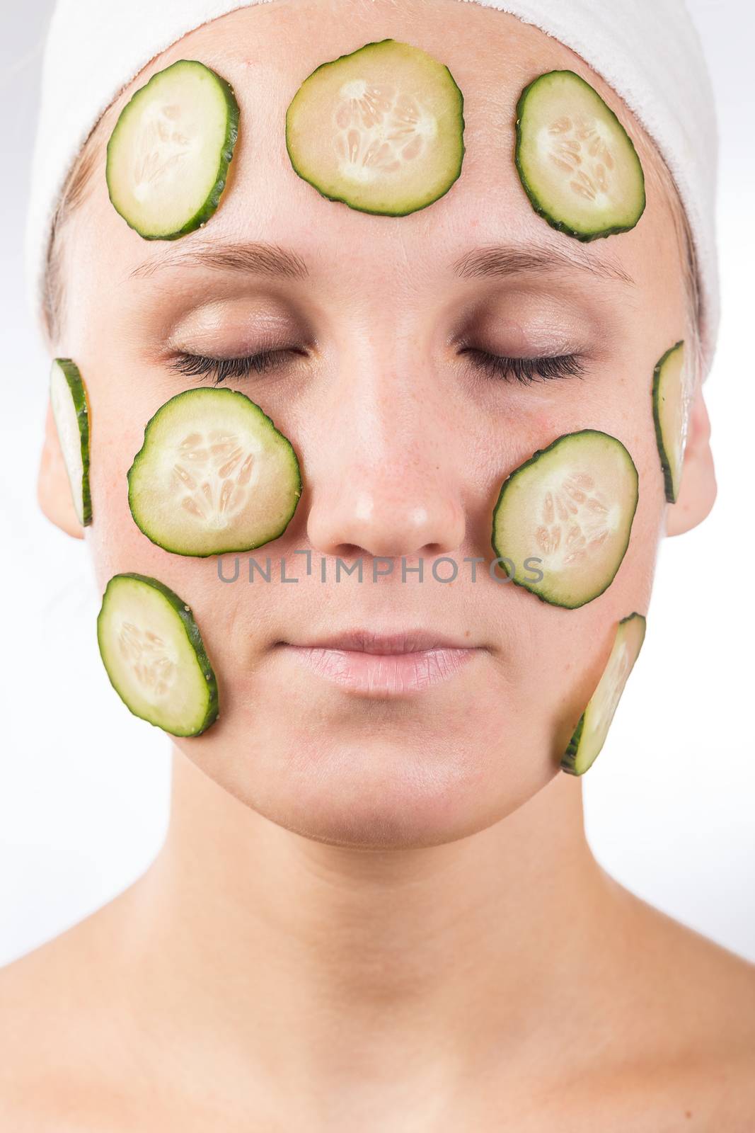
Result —
M561 767L570 775L584 775L592 766L606 742L608 730L624 685L632 672L637 655L645 640L645 619L642 614L629 614L619 622L614 647L598 688L580 717L568 747L561 759Z

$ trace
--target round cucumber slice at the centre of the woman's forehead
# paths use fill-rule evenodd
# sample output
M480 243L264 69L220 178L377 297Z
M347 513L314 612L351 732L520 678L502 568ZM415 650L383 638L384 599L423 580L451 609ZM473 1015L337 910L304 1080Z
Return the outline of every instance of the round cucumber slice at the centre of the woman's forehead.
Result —
M462 171L464 99L447 67L397 40L320 63L285 114L294 171L328 201L405 216Z

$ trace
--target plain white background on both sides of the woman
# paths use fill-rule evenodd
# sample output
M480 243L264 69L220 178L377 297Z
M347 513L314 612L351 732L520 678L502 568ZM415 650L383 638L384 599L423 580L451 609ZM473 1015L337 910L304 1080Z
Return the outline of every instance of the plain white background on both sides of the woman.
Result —
M0 36L0 964L146 869L170 787L168 738L129 714L102 667L85 546L35 499L49 359L24 306L22 237L50 8L7 6ZM721 135L723 316L706 386L719 500L702 527L662 547L642 657L583 784L606 869L755 960L755 6L689 8Z

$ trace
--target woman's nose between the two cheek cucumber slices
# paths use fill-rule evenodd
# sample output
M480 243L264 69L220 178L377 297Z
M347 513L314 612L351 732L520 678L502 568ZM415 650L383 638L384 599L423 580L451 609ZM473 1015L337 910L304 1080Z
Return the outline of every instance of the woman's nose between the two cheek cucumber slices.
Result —
M344 369L320 406L318 459L314 469L307 462L307 534L324 555L432 557L464 542L453 398L411 353L362 350L352 358L357 376L349 366L345 380Z

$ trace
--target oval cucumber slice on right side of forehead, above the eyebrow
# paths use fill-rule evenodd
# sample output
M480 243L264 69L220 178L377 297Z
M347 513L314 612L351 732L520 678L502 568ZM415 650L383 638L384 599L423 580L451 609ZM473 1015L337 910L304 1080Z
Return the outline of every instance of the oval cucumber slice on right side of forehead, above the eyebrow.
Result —
M577 240L626 232L645 210L632 138L572 70L546 71L522 91L514 160L534 211Z

